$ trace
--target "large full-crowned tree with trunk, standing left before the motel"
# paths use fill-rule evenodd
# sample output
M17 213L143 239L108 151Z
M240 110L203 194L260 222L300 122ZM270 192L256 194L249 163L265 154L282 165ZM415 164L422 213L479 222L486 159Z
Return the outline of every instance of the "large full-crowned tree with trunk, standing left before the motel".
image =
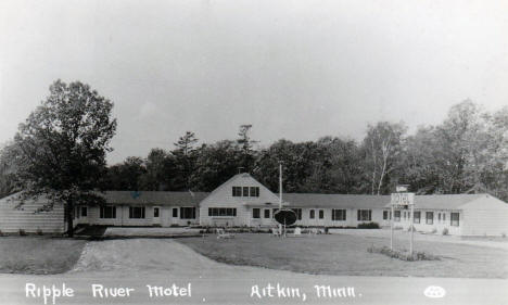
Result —
M113 103L88 85L56 80L14 137L22 202L46 196L50 202L45 208L62 203L69 237L74 206L103 203L96 190L116 130L112 109Z

